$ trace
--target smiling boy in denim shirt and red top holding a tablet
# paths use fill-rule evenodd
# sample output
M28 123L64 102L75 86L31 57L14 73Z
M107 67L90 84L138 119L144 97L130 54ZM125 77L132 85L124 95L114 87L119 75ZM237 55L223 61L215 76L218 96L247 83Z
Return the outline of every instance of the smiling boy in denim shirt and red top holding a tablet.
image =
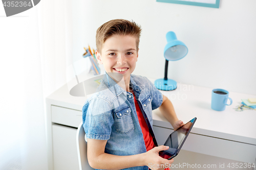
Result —
M131 75L136 67L141 29L114 19L96 33L96 57L106 75L84 104L83 128L88 138L88 161L96 169L165 169L173 163L159 156L152 110L159 107L174 129L183 125L172 103L145 77ZM117 81L121 75L124 83ZM160 167L160 168L159 168Z

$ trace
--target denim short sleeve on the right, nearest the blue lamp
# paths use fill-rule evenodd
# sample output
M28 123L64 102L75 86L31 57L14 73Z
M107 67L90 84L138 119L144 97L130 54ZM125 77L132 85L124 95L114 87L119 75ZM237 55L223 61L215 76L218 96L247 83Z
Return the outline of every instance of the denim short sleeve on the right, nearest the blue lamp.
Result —
M152 96L152 110L155 110L162 105L163 94L156 88L156 86L150 80L148 80L148 82L150 83L150 93Z

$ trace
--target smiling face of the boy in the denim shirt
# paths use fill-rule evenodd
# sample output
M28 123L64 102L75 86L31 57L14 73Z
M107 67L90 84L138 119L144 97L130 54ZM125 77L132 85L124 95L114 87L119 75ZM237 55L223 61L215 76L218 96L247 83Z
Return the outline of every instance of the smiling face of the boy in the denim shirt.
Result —
M106 39L101 54L96 51L99 64L106 72L118 72L124 80L130 80L138 59L136 38L130 35L113 35Z

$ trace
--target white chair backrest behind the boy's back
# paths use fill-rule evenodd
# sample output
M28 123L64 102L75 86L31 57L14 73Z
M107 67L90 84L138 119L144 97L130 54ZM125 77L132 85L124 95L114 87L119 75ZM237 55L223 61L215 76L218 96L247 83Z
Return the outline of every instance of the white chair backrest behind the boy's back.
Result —
M87 142L84 139L84 132L82 122L80 123L77 132L76 132L76 145L77 145L77 153L78 153L78 162L80 170L88 170L93 169L87 160Z

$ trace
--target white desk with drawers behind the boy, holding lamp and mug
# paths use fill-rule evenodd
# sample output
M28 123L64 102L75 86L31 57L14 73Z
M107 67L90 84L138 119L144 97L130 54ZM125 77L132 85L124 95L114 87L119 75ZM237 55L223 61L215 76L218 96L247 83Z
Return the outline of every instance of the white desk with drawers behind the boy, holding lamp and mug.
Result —
M188 86L178 84L174 91L162 91L170 101L172 101L179 119L184 123L191 118L197 117L197 122L183 145L184 150L197 153L227 158L242 162L254 163L256 158L256 111L234 111L236 105L241 104L241 99L256 98L255 95L230 92L229 96L233 100L231 106L227 106L225 111L214 111L210 108L211 89L199 86ZM67 145L75 148L75 141L69 141L69 136L58 140L64 134L75 135L75 129L82 121L81 109L86 101L86 97L75 97L69 94L67 85L62 86L46 99L47 107L47 139L49 170L57 170L56 167L70 165L71 159L74 164L78 161L75 156L76 151L61 152L54 158L53 153L58 154L60 145ZM159 144L163 144L172 130L172 126L161 115L158 109L153 111L154 131ZM65 127L65 126L69 127ZM72 127L74 127L72 129ZM69 129L70 128L70 129ZM58 136L62 131L67 131ZM66 141L65 141L66 140ZM58 144L62 142L61 144ZM70 144L73 143L73 144ZM73 146L71 146L73 145ZM56 147L58 149L56 149ZM56 157L55 154L55 157ZM72 155L73 154L73 155ZM63 156L64 158L59 158ZM55 159L55 160L53 160ZM61 162L57 162L58 160ZM63 161L69 160L69 161ZM75 166L75 165L74 165ZM73 167L74 167L73 166ZM61 168L59 168L61 169ZM63 168L61 169L63 170Z

